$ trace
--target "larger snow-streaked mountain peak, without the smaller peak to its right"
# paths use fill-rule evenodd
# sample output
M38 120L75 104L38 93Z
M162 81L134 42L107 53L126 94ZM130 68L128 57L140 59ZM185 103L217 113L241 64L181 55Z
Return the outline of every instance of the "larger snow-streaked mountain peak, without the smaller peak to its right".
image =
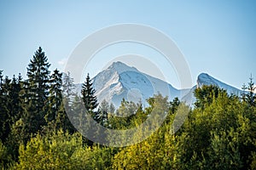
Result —
M128 101L141 101L143 105L147 105L146 99L158 93L168 95L169 99L182 97L181 91L173 88L171 84L119 61L98 73L92 81L99 102L106 99L116 106L120 105L123 98Z

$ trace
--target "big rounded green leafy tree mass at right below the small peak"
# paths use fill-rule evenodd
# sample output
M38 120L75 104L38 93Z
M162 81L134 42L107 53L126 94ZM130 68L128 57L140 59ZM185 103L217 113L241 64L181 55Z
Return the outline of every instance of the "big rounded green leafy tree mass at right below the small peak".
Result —
M218 94L204 110L192 111L177 145L184 168L249 168L251 150L256 149L255 114L225 93Z

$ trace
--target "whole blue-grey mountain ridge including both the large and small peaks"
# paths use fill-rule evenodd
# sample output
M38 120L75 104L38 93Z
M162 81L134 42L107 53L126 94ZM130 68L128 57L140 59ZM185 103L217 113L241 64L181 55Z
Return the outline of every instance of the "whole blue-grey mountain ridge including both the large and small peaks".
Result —
M224 82L201 73L197 77L197 85L189 89L173 88L171 84L156 77L151 77L137 68L125 65L122 62L113 62L106 70L99 72L92 78L93 88L96 90L96 97L101 103L103 99L119 106L122 99L134 102L142 102L144 106L147 99L154 94L168 96L169 100L178 97L189 104L195 102L194 91L202 85L215 85L224 88L228 94L241 94L241 90L234 88ZM76 85L75 91L81 92L81 84Z

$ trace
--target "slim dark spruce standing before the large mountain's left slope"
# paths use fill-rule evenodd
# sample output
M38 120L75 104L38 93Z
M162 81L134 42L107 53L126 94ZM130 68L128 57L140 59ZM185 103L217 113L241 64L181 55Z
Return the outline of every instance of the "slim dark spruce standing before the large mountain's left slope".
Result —
M96 91L95 89L92 88L92 82L88 74L85 82L83 83L81 94L82 94L82 99L84 102L85 109L90 114L93 114L93 111L96 109L98 105L95 93ZM97 116L95 115L94 118L96 117Z

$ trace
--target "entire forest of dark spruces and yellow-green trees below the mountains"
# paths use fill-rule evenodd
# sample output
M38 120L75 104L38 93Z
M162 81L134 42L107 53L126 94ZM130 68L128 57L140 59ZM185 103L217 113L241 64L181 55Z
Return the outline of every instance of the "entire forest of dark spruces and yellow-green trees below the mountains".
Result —
M26 79L4 77L0 71L1 169L256 169L252 77L241 96L215 86L196 88L193 108L160 94L149 98L147 107L123 99L114 108L106 100L98 104L89 74L81 94L74 94L72 76L49 67L38 48ZM166 118L148 139L112 147L86 139L67 110L81 113L76 116L80 126L79 117L88 114L103 127L119 130L139 127L153 110ZM185 110L183 125L170 133L175 116Z

